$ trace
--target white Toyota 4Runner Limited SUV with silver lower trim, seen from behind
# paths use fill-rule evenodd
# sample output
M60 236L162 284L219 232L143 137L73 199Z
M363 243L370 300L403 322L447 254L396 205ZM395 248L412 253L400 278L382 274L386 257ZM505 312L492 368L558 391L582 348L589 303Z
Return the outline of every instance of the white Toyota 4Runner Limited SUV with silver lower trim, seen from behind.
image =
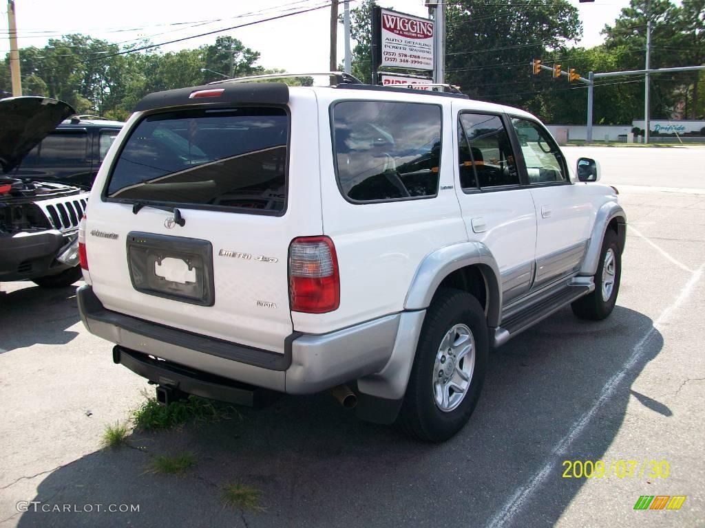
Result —
M529 113L336 79L142 99L82 222L82 320L164 403L336 389L443 441L489 348L611 313L625 213Z

